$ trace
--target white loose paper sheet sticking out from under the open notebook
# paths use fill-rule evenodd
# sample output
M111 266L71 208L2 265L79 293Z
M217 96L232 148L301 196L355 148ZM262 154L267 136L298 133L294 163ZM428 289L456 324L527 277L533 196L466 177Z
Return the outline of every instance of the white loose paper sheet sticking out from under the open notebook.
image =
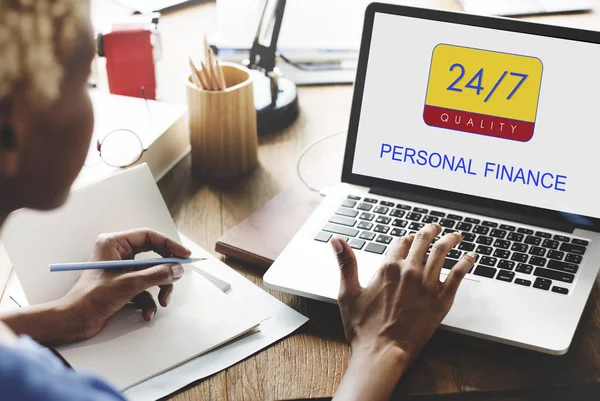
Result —
M195 358L128 389L125 391L125 396L132 401L156 400L167 396L190 383L235 365L293 333L308 321L308 318L248 281L183 234L180 236L184 245L189 247L194 255L209 258L202 266L205 271L231 283L231 289L227 292L228 297L249 304L250 310L246 311L248 314L259 315L262 311L271 315L271 318L261 323L258 333Z

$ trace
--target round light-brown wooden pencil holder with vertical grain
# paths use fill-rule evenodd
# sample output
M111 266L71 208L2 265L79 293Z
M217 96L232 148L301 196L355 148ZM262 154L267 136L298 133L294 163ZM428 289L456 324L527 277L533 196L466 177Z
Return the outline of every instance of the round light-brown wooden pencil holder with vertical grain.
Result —
M207 178L229 178L258 165L252 77L248 69L222 63L227 88L208 91L186 82L192 170Z

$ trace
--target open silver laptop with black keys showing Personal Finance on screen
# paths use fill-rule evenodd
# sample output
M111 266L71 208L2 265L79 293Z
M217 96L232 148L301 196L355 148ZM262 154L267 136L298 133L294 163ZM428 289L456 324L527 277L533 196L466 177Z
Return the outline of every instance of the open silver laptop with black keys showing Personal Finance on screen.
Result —
M600 33L386 4L366 11L342 170L264 276L336 302L328 243L366 286L439 223L478 260L442 327L564 354L600 265Z

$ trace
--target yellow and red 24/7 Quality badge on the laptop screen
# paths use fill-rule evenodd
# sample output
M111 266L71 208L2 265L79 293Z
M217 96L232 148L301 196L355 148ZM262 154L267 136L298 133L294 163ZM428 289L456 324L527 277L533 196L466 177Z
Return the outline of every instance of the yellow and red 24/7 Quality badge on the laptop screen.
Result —
M533 137L539 58L439 44L423 118L430 126L527 142Z

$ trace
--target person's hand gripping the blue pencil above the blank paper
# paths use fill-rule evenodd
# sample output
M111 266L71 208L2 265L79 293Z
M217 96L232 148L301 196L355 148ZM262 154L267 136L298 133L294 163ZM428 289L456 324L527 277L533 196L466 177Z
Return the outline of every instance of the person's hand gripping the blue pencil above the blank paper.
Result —
M133 259L136 254L154 251L163 257L188 258L190 250L149 229L103 234L98 237L90 261ZM148 288L158 286L158 301L167 307L173 283L183 276L181 265L158 265L143 270L88 270L61 300L76 319L77 340L98 334L108 319L133 302L150 321L157 305Z

